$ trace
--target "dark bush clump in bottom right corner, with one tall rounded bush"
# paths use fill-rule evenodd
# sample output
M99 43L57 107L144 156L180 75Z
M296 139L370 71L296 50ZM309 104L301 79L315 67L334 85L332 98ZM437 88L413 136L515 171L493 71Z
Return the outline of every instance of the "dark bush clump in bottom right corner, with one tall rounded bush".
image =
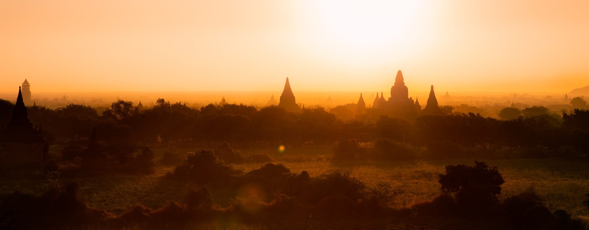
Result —
M413 209L434 215L497 219L508 229L585 229L581 221L571 219L564 210L551 212L534 192L511 196L501 204L497 194L504 180L497 167L485 162L475 161L475 166L448 165L438 182L444 194Z

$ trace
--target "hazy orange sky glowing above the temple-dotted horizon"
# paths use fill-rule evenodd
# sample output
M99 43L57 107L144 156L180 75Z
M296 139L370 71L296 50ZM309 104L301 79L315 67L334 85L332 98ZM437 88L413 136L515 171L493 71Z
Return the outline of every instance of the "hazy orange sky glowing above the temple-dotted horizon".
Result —
M568 92L589 1L0 1L0 91ZM388 93L386 93L388 95Z

